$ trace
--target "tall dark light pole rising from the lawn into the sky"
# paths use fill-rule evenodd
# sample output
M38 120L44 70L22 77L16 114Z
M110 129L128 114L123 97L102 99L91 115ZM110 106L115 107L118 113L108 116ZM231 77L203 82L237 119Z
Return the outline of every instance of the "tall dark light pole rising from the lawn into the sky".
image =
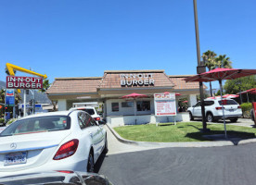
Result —
M206 68L203 63L200 62L200 44L199 44L199 31L198 31L198 6L197 0L193 0L194 3L194 19L195 19L195 30L196 30L196 40L197 40L197 56L198 56L198 74L205 72ZM206 117L205 117L205 108L204 108L204 94L203 94L203 83L199 82L199 89L200 89L200 102L201 102L201 114L202 114L202 124L203 129L202 131L209 131L206 125Z

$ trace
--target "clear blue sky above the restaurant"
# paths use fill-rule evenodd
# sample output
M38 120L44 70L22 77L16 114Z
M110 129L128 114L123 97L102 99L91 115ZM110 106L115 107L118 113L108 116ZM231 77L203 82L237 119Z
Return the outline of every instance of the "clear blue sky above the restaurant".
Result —
M198 0L201 53L256 68L255 7L255 0ZM0 26L0 80L7 62L51 82L121 69L196 74L193 0L0 0Z

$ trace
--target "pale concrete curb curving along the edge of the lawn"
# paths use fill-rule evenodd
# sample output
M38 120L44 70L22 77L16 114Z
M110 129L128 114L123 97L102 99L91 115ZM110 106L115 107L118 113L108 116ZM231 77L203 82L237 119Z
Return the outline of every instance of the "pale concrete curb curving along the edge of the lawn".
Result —
M132 144L137 146L145 147L215 147L215 146L234 146L240 144L247 144L256 142L255 139L241 140L241 141L213 141L213 142L135 142L131 140L123 139L114 129L109 126L109 123L106 124L112 134L116 137L119 142Z

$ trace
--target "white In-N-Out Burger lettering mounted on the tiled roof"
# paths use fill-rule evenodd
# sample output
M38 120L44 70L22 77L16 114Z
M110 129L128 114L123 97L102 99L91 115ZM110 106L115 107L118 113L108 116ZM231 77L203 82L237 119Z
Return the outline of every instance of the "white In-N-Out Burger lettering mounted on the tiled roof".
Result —
M142 86L142 85L154 85L152 73L134 73L134 74L121 74L122 86Z

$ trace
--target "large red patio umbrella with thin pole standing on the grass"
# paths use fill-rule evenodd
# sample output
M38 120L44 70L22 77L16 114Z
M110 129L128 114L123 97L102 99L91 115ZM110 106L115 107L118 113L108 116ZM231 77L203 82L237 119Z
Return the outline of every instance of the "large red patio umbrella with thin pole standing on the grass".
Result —
M218 80L221 88L221 99L223 101L223 83L222 80L234 80L241 77L246 77L250 75L255 75L256 69L237 69L237 68L215 68L208 72L204 72L192 77L186 78L186 82L190 81L201 81L209 82L213 80ZM223 115L224 115L224 105L223 106ZM224 135L226 138L226 128L225 128L225 118L224 118Z

